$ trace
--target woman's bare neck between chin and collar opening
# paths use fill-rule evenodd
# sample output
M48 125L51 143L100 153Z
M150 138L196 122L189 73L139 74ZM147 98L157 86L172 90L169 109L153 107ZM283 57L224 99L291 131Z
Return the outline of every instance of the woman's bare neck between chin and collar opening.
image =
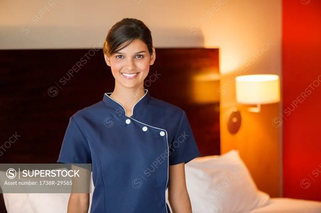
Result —
M112 94L110 94L110 97L123 105L126 112L131 112L135 103L137 103L144 94L143 84L133 88L126 88L115 82L115 89Z

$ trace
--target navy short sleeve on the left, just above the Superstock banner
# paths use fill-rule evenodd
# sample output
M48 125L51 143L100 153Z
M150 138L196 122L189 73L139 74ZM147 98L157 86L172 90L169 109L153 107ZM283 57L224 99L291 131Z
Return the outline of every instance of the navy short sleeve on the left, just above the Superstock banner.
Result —
M73 117L69 119L57 163L91 163L88 143Z

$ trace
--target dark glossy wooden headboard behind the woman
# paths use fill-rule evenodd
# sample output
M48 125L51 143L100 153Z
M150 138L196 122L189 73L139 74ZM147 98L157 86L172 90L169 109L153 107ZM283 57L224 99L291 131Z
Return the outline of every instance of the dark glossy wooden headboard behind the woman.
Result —
M217 155L219 101L203 73L218 75L218 49L157 48L145 88L185 110L202 156ZM1 143L20 135L0 163L56 163L70 116L114 88L102 50L1 50L0 75Z

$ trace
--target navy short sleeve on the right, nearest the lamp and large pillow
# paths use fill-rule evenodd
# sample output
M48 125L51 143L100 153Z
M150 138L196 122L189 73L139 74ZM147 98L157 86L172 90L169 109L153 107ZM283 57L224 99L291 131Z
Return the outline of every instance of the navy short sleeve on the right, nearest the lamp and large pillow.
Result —
M185 111L178 125L178 130L170 143L169 165L187 163L200 156L192 129Z

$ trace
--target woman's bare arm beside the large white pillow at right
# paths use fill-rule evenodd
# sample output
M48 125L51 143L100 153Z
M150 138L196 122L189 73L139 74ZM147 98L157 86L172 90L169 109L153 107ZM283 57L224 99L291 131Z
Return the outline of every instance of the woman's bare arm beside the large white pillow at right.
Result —
M169 167L168 200L173 213L192 212L185 182L185 163Z

